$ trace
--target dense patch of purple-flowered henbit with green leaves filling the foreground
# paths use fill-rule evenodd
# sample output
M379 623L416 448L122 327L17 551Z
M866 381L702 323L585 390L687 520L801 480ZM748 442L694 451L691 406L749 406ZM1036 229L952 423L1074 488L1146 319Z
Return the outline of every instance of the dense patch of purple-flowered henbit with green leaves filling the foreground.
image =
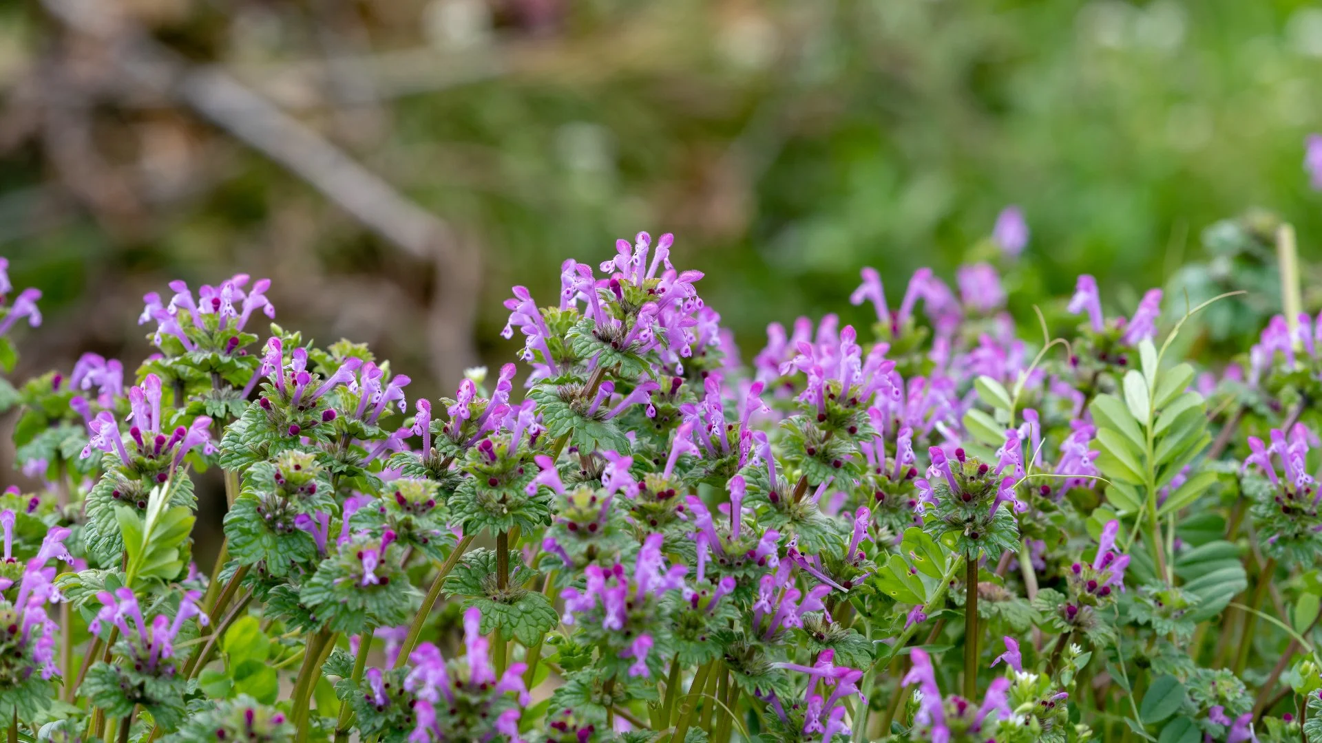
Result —
M1199 374L1200 308L1080 276L1032 349L1026 239L894 309L863 268L873 340L772 324L744 368L640 233L514 287L522 401L509 364L435 407L364 345L258 345L268 282L147 295L128 379L0 385L44 483L0 496L9 739L1322 740L1322 317Z

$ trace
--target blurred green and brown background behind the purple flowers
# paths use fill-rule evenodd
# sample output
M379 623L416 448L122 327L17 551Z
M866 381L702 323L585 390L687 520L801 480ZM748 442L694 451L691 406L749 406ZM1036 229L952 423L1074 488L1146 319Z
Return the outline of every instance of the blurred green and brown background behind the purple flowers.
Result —
M551 304L564 258L640 229L676 233L746 358L771 320L865 320L861 266L892 301L919 266L949 279L1007 204L1032 229L1021 320L1080 271L1132 309L1251 206L1292 221L1305 258L1322 241L1301 168L1322 128L1318 4L97 4L114 22L91 32L65 0L0 8L0 254L46 292L28 370L87 349L134 365L144 292L242 270L274 280L279 323L370 341L435 397L513 356L510 284ZM205 90L135 78L139 53L305 124L439 218L444 259L254 151L251 119L200 112Z

